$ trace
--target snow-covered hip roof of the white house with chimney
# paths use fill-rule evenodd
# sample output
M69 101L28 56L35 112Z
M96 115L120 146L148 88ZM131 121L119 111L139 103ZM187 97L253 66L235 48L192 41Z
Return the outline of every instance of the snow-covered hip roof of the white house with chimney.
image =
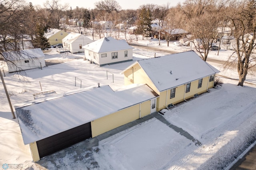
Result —
M84 45L82 48L95 53L102 53L108 51L116 51L123 49L133 49L125 40L116 40L112 37L104 37L95 42Z

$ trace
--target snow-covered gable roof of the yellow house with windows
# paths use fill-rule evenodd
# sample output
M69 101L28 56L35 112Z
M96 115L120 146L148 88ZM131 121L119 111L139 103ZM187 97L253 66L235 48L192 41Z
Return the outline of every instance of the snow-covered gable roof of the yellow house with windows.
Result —
M220 72L194 51L143 59L136 63L142 67L160 92Z

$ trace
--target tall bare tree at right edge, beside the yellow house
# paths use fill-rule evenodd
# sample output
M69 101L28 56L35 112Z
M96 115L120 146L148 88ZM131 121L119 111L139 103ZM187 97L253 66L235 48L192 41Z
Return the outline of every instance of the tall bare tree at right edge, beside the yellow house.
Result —
M256 43L256 0L232 4L232 26L236 44L234 45L239 86L244 85L248 70L255 66L256 56L252 53Z

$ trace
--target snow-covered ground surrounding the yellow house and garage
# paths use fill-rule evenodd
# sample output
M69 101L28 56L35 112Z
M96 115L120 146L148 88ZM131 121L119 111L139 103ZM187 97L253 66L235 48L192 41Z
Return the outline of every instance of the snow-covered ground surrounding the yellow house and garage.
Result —
M164 41L159 46L158 40L155 39L134 43L177 52L191 50L190 47L177 47L172 42L169 47ZM134 60L154 56L154 53L150 49L147 51L134 49ZM224 49L220 50L219 55L217 51L210 51L209 58L226 60L231 53L232 51ZM166 55L166 52L159 51L157 55L161 54ZM56 49L51 49L45 55L46 60L74 60L50 65L42 70L28 70L26 77L5 72L4 81L12 105L32 100L34 93L42 91L54 90L60 94L79 89L80 86L83 88L97 83L110 85L114 90L122 89L124 77L120 72L134 62L98 67L84 61L83 53L58 54ZM196 146L194 142L154 118L101 140L98 146L99 152L93 153L100 167L97 169L220 169L228 166L242 153L256 136L256 78L250 72L244 87L238 87L235 68L226 69L219 63L210 64L221 71L217 77L224 83L222 88L210 89L210 93L195 97L188 103L175 105L164 113L165 119L186 130L202 143L201 146ZM22 169L44 169L32 162L29 146L23 144L18 120L12 119L2 83L0 84L0 150L0 166L5 163L21 164ZM70 164L70 167L74 169L81 167L72 162L74 161L72 155L66 155L66 158L65 163ZM84 163L91 164L91 162ZM58 167L52 166L52 169Z

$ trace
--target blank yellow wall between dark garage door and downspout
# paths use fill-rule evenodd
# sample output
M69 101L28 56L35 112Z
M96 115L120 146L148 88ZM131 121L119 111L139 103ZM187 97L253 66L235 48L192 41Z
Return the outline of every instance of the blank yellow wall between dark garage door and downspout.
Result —
M95 121L92 121L92 137L98 136L104 132L108 132L109 130L139 119L139 109L139 104L134 105L132 107L128 107L116 113L112 113L100 119L96 119Z

